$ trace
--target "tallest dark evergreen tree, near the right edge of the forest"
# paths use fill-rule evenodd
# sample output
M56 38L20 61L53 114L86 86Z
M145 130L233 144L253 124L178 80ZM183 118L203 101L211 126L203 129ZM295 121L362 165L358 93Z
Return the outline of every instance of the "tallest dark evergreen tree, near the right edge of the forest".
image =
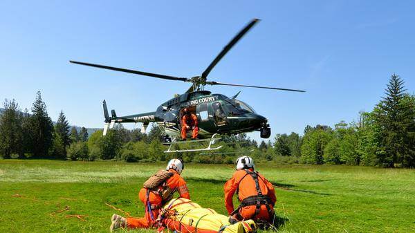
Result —
M404 157L405 138L407 136L407 122L413 121L411 118L410 106L406 104L405 87L403 80L398 75L391 75L385 97L374 109L376 124L380 127L377 139L379 142L378 151L376 151L376 163L382 167L394 167L395 162L402 161Z

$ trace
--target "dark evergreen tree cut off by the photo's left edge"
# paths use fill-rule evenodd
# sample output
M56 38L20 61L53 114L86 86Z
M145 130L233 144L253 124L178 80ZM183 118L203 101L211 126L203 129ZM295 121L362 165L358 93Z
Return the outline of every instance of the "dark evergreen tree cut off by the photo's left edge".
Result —
M4 102L4 113L0 117L0 155L10 158L15 153L23 156L23 131L21 123L23 115L15 100Z

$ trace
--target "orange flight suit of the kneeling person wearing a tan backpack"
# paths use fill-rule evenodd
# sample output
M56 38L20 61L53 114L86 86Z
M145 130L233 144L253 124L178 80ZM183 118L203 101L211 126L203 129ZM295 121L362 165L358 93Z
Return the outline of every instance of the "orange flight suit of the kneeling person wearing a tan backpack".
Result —
M166 180L166 185L170 189L177 191L181 198L190 199L189 189L185 180L177 173L174 169L169 169L174 175ZM151 214L149 212L147 203L147 189L142 188L138 194L140 200L145 205L145 214L143 218L127 218L127 227L129 228L149 228L151 227L159 214L160 208L162 207L163 199L156 192L149 192L148 200L151 205ZM152 216L151 216L152 215Z

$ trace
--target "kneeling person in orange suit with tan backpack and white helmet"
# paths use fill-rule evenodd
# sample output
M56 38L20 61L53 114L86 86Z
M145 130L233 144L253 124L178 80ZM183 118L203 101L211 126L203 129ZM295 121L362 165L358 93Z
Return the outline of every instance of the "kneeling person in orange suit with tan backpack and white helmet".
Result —
M160 208L167 203L173 196L174 192L178 192L181 198L190 199L189 189L185 180L180 176L184 169L183 161L172 159L167 164L166 171L172 172L157 190L149 190L143 187L138 194L140 200L145 205L145 215L143 218L124 218L118 214L111 217L111 226L109 230L112 232L118 228L149 228L156 223ZM167 196L163 195L166 194ZM163 198L163 196L165 196Z

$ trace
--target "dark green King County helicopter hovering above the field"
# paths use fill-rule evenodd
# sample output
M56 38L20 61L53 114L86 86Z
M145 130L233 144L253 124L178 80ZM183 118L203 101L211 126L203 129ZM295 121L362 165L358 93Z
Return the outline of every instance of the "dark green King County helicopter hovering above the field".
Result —
M112 71L120 71L124 73L133 73L136 75L144 75L156 77L163 80L174 80L181 82L189 82L192 85L181 95L175 95L172 99L160 104L156 111L148 113L140 113L134 115L118 116L115 110L111 110L109 115L107 103L103 101L104 109L104 131L103 136L107 134L108 129L112 129L116 123L142 123L141 132L145 133L150 122L156 122L157 126L164 133L164 144L169 145L169 152L188 152L188 151L212 151L220 149L221 146L212 147L214 142L218 140L218 136L231 136L238 133L246 133L251 131L259 131L261 138L269 138L271 129L268 119L259 115L251 106L237 100L237 96L241 91L232 97L227 97L219 93L211 93L205 90L206 85L215 86L239 86L250 88L266 88L279 91L295 91L305 92L302 90L289 88L276 88L269 86L251 86L242 84L228 84L223 82L208 81L210 71L219 63L219 61L228 53L228 51L246 34L259 19L252 19L239 33L221 50L219 55L210 63L208 68L201 75L194 77L175 77L171 75L161 75L158 73L147 73L127 68L117 68L113 66L104 66L101 64L91 64L86 62L69 61L73 64L84 66L92 66L95 68L104 68ZM187 109L190 113L197 116L199 122L199 134L196 140L178 140L181 138L181 119L183 110ZM191 131L187 132L187 138L190 137ZM202 149L186 149L172 150L172 145L178 143L191 142L208 142L208 146Z

